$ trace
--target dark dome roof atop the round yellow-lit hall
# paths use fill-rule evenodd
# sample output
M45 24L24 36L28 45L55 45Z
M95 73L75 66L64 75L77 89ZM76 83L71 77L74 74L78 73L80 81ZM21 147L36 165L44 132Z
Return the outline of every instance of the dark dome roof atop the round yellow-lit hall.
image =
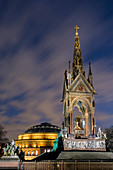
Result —
M25 133L49 133L49 132L55 132L59 133L61 131L61 128L55 125L52 125L51 123L44 122L40 125L35 125L30 127L28 130L25 131Z

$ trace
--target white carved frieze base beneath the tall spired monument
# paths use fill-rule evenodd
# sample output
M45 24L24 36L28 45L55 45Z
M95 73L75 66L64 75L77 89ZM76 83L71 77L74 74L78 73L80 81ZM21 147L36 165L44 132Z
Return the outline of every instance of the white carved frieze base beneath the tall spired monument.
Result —
M64 150L106 151L105 139L69 139L64 138Z

